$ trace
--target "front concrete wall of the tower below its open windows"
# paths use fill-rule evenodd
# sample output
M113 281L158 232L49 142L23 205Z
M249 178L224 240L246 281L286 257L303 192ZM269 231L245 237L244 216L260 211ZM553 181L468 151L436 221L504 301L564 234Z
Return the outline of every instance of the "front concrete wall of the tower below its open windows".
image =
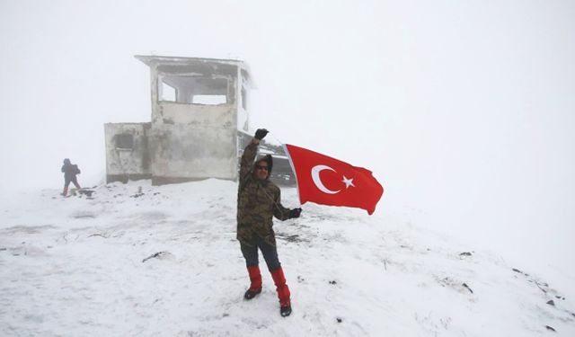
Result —
M237 78L228 76L227 102L218 105L158 101L152 69L152 183L237 177Z

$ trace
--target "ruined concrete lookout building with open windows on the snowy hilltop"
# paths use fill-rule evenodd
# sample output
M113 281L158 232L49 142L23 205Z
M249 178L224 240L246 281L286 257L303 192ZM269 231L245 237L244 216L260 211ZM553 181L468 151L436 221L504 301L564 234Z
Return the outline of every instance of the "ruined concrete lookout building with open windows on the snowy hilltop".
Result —
M152 119L104 125L106 181L151 179L158 185L236 180L238 157L252 137L247 132L253 81L247 64L215 58L136 58L150 67ZM281 150L272 147L270 152L279 155ZM282 155L276 163L276 174L291 172Z

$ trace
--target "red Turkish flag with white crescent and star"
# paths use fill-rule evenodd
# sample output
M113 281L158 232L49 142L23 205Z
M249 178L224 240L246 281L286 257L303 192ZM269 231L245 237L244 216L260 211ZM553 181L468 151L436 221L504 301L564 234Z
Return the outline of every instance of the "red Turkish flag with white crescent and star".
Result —
M371 215L384 188L371 171L341 162L327 155L286 144L296 172L299 201L322 205L363 208Z

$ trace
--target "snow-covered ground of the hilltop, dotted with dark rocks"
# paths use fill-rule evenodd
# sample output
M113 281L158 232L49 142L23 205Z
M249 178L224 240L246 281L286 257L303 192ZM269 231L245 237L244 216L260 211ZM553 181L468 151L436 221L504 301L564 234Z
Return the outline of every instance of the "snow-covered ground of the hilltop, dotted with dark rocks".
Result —
M263 292L243 300L236 188L144 181L102 184L92 198L1 196L0 335L575 336L566 290L385 200L373 217L308 203L276 220L293 305L281 317L263 262ZM297 206L294 189L282 193Z

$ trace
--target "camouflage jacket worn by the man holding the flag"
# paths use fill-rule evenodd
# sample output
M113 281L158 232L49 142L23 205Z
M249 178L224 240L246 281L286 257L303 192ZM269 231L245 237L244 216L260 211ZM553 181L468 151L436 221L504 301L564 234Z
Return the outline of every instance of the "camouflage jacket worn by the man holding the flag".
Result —
M279 187L270 182L270 176L265 181L254 178L253 160L257 151L258 145L252 143L243 150L237 192L237 239L250 244L252 235L258 235L275 245L272 217L287 220L289 209L281 205Z

